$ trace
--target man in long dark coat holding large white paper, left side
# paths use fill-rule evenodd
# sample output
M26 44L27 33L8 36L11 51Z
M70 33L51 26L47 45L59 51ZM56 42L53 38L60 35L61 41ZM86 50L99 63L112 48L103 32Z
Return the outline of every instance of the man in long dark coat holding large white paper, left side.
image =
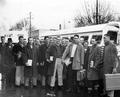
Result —
M37 86L37 64L38 64L38 51L33 45L33 38L28 38L28 44L25 47L25 86Z

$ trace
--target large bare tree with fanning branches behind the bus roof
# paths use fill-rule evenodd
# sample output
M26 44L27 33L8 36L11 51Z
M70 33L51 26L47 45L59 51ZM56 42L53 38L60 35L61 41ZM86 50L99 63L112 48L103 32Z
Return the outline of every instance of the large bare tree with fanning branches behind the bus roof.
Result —
M110 3L105 2L105 0L103 2L102 0L96 0L96 2L93 4L84 2L84 14L79 13L74 18L76 27L108 23L115 20Z

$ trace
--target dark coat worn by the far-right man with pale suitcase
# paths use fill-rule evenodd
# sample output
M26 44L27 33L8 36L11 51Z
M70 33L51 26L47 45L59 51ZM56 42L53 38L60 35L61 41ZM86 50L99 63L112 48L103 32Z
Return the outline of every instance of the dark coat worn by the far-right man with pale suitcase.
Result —
M105 43L103 65L104 74L111 74L113 72L113 68L116 67L116 59L117 59L116 46L111 42Z

